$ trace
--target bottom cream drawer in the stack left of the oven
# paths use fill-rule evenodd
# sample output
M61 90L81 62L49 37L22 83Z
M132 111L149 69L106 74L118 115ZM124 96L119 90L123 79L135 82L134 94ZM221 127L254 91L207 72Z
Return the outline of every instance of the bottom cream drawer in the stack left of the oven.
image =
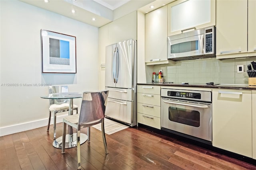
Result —
M161 119L159 117L138 113L137 121L138 123L141 123L143 125L154 127L156 129L161 129Z

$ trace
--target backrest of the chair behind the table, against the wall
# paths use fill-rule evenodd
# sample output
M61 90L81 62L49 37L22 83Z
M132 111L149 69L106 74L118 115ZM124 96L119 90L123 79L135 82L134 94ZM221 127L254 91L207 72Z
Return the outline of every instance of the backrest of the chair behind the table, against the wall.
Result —
M49 94L68 92L68 86L49 86ZM67 99L50 99L50 105L68 103Z

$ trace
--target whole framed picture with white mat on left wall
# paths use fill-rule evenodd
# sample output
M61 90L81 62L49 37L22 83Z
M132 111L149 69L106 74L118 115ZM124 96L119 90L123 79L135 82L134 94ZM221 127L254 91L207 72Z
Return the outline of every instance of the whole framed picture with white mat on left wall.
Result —
M76 37L41 29L42 73L76 73Z

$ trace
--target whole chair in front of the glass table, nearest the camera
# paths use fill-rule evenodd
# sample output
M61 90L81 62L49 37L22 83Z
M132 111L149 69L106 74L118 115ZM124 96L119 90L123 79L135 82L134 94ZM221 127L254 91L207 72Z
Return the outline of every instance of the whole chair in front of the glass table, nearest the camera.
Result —
M77 129L77 161L78 169L81 169L80 155L80 129L87 127L88 143L90 142L90 127L101 123L102 139L105 153L108 154L104 130L105 108L107 104L108 90L98 92L84 92L80 114L68 115L63 118L62 153L65 153L66 125Z

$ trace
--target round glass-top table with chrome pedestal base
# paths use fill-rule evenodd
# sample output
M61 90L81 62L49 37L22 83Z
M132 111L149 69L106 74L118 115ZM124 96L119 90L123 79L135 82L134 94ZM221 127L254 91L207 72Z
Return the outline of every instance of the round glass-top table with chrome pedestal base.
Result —
M78 92L63 92L63 93L53 93L48 94L48 96L40 96L40 98L44 99L69 99L69 111L68 115L73 114L73 99L82 98L82 94ZM80 134L80 144L85 143L88 137L86 134ZM62 137L58 137L52 143L55 148L62 148ZM73 128L68 127L68 134L66 135L65 148L76 147L76 133L73 133Z

